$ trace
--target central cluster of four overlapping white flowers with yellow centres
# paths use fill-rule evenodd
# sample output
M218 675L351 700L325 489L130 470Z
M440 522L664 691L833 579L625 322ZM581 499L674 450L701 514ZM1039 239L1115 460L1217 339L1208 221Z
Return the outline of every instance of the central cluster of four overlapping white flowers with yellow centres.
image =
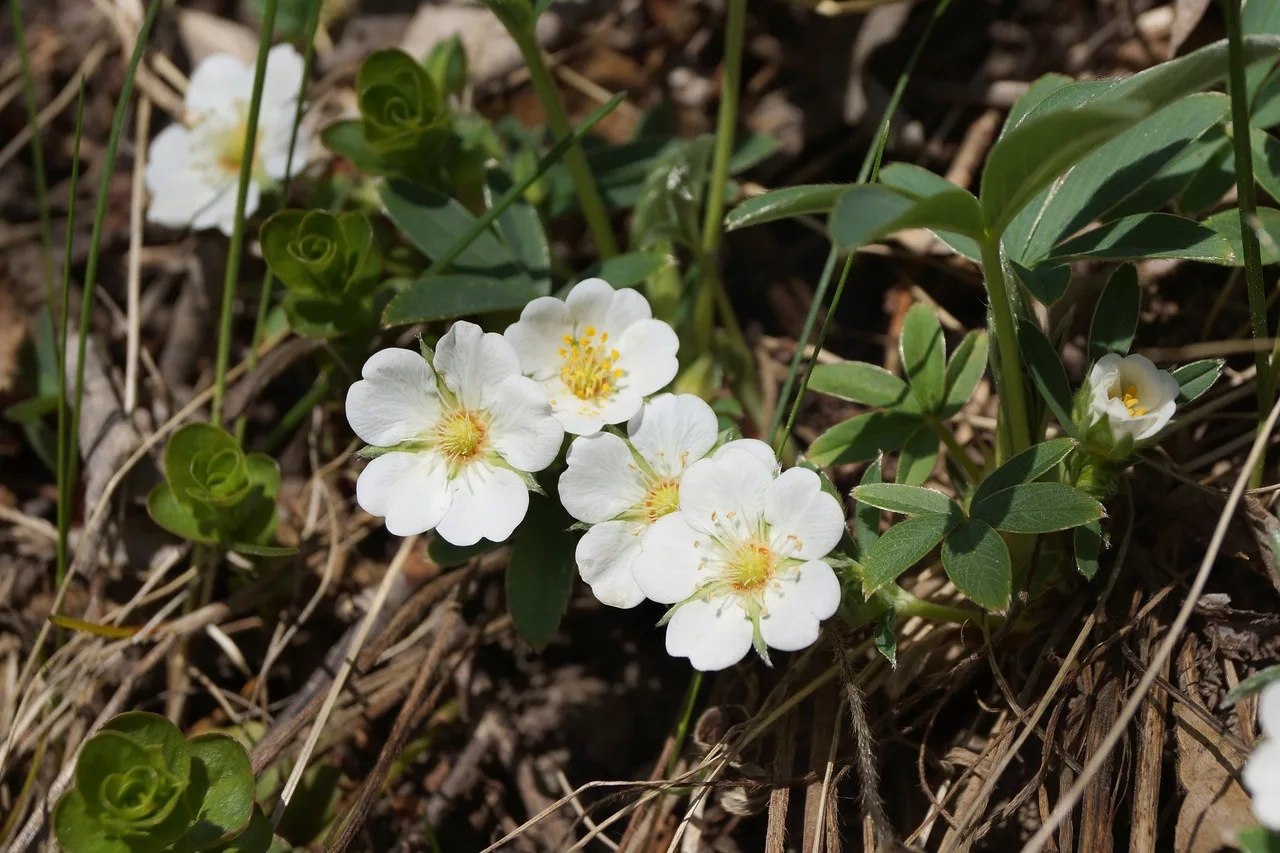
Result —
M653 397L677 347L640 293L588 279L504 334L458 321L434 353L376 352L347 394L372 456L356 500L397 535L500 542L568 433L559 498L586 526L576 560L596 598L669 605L667 651L700 670L804 648L840 605L827 557L844 510L814 471L727 441L703 400Z

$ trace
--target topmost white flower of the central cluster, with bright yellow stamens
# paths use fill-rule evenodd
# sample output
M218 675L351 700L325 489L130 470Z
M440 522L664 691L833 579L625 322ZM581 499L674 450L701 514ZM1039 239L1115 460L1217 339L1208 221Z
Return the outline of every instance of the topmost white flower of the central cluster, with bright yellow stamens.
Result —
M640 411L676 377L680 341L636 291L599 278L568 297L541 296L508 327L520 369L547 392L564 430L590 435Z

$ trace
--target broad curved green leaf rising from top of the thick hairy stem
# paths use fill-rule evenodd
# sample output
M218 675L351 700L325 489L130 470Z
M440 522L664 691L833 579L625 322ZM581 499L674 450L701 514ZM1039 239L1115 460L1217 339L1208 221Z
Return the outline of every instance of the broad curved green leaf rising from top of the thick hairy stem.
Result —
M991 233L1004 232L1041 190L1089 151L1142 118L1129 104L1088 104L1029 117L991 149L982 172L982 210Z

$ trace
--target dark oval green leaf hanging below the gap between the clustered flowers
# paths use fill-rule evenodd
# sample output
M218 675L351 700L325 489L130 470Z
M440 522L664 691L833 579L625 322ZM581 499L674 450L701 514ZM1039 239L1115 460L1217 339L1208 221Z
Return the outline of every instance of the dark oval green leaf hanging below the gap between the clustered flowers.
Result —
M507 607L534 648L550 642L573 589L573 523L550 498L530 496L507 565Z

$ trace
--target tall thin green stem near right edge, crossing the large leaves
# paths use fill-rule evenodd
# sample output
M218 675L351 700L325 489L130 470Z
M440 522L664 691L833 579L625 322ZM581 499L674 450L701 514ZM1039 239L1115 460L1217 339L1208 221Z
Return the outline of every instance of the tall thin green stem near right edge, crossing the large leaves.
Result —
M1267 298L1262 283L1262 250L1258 245L1258 202L1253 186L1253 147L1249 142L1249 97L1244 83L1243 36L1240 27L1240 0L1222 0L1226 13L1226 64L1228 93L1231 96L1231 142L1235 146L1235 190L1236 207L1240 211L1240 247L1244 251L1244 280L1249 293L1249 327L1253 339L1267 337ZM1258 383L1258 425L1267 419L1275 401L1275 377L1267 352L1253 353L1257 365ZM1249 473L1249 485L1262 484L1265 457Z

